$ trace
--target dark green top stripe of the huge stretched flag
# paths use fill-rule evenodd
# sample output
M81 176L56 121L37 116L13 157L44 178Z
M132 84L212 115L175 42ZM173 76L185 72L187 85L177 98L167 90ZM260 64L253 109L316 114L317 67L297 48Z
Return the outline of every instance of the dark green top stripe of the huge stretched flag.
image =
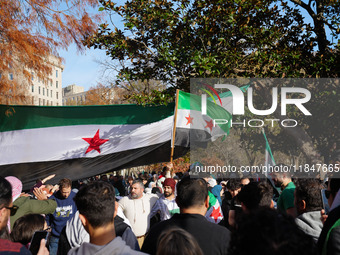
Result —
M9 110L13 114L6 115ZM0 132L73 125L149 124L174 114L167 106L6 106L0 105Z

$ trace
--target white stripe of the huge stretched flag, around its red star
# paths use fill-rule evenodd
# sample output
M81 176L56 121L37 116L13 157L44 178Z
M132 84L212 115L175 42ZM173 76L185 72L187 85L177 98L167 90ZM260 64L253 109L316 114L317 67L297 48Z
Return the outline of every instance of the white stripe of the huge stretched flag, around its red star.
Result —
M143 125L77 125L36 128L0 133L0 164L93 158L130 149L163 143L171 139L173 116ZM100 139L109 139L100 146L100 153L85 154L99 129Z

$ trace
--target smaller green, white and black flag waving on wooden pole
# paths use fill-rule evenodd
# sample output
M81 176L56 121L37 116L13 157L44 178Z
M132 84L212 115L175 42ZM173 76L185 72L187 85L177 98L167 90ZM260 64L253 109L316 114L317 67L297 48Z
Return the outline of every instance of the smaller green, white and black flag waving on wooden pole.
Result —
M176 146L204 146L229 134L231 113L209 100L206 109L207 114L203 115L200 96L179 91Z

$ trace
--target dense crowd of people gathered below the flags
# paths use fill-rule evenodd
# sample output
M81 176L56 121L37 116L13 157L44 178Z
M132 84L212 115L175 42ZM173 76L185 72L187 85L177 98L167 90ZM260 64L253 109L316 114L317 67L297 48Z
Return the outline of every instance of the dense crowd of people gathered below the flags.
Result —
M25 193L0 177L0 254L31 254L37 231L49 232L37 254L340 254L340 179L189 171L51 175Z

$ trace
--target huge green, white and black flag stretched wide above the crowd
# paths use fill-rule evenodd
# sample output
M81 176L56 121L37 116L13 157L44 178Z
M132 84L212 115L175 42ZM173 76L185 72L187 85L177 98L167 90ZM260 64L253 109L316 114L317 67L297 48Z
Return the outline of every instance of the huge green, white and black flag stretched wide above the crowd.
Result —
M0 105L0 175L29 189L52 173L76 180L169 161L174 108ZM186 151L177 146L174 158Z

